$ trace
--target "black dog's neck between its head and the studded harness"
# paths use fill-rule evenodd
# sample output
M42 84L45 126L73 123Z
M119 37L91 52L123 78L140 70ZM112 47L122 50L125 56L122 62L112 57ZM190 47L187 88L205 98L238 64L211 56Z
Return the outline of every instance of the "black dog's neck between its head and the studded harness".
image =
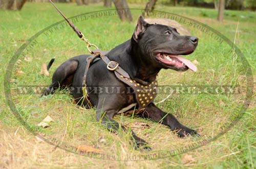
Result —
M110 60L116 61L134 80L153 82L156 79L160 68L153 67L150 61L143 59L137 45L131 39L116 46L107 56Z

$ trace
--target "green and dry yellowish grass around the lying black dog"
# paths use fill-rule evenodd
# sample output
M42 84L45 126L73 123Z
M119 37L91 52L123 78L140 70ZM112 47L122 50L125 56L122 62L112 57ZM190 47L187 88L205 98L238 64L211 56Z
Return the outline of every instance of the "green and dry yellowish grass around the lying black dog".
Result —
M75 4L57 4L57 6L68 17L105 9L102 5L78 7ZM143 8L143 6L134 4L130 7ZM221 32L231 41L234 41L236 35L236 45L250 63L255 78L256 14L254 12L227 10L225 11L224 22L220 23L215 20L217 12L212 9L157 6L156 10L201 21ZM121 22L114 15L77 22L75 25L90 42L97 44L102 50L110 50L131 38L139 12L132 11L134 18L132 23ZM241 15L246 17L241 18ZM0 149L4 150L1 151L0 156L5 159L3 163L0 163L0 167L253 168L256 166L255 93L243 118L222 137L197 150L173 157L139 162L113 162L74 155L59 149L55 150L47 143L36 142L34 136L25 130L6 105L3 86L4 75L10 59L20 45L40 30L62 18L47 3L27 3L20 12L0 10L0 16L0 67L3 75L0 77L2 89L0 91L0 136L4 140L2 144L0 143ZM200 39L197 50L189 56L191 61L196 59L200 63L198 72L177 73L173 70L161 70L158 76L159 84L183 86L240 85L242 87L242 93L233 95L174 94L171 99L158 105L164 111L178 116L183 124L199 131L200 140L216 136L224 130L225 126L230 125L232 119L238 115L238 110L245 97L246 79L243 75L241 60L234 58L228 52L230 50L228 45L225 43L220 45L200 30L190 27L187 29ZM19 58L20 64L15 66L15 70L22 70L25 74L13 75L12 77L12 79L16 79L15 83L12 83L13 100L20 115L30 124L31 128L45 134L47 138L54 137L73 146L86 144L100 148L104 153L115 154L120 159L125 155L145 154L133 150L129 144L129 136L125 133L115 135L102 128L95 122L94 109L78 108L72 104L72 97L61 94L62 91L57 91L55 95L46 98L40 98L39 94L16 94L15 87L18 85L50 84L51 76L59 64L75 55L88 53L85 44L76 37L69 27L54 31L49 36L42 34L36 40L38 44L31 50L25 50L24 55ZM32 58L32 62L26 62L25 56ZM41 76L41 63L48 62L53 57L56 60L50 69L50 77ZM253 83L255 84L255 82ZM160 93L156 102L165 96L166 94ZM38 128L36 125L47 115L50 115L54 122L50 124L49 128ZM137 116L117 115L115 119L133 129L138 136L149 142L153 152L178 149L189 146L196 141L195 138L191 137L178 138L167 127ZM149 127L144 126L144 124ZM9 136L10 139L8 139ZM99 143L98 140L101 138L106 141ZM185 158L184 155L191 155L194 161L184 164L182 162Z

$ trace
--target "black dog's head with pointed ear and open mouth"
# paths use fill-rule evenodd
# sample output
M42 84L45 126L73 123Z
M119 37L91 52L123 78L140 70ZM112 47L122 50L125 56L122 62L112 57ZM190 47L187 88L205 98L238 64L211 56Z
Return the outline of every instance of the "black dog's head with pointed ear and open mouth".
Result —
M180 56L196 50L198 38L195 36L181 36L175 28L149 24L140 16L132 39L138 44L141 60L154 67L197 71L193 63Z

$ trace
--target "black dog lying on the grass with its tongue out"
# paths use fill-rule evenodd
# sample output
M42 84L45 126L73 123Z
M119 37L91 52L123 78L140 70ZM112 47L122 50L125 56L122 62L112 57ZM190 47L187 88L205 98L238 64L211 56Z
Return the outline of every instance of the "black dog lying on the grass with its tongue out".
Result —
M164 25L148 24L142 16L138 19L138 25L130 40L116 46L106 56L119 63L120 67L128 73L131 79L137 82L151 83L161 68L170 68L177 71L185 71L188 68L196 71L196 66L178 55L188 55L195 51L198 38L194 36L180 36L175 28ZM88 105L83 98L82 80L86 69L86 59L90 55L73 57L62 63L53 74L52 84L43 95L53 93L59 87L74 86L73 96L79 105ZM87 73L88 86L119 86L127 90L127 85L119 81L113 71L107 69L106 64L99 60L93 63ZM121 109L137 103L133 93L106 94L89 93L91 104L96 107L96 119L106 128L118 131L119 124L113 117ZM178 122L174 115L160 110L152 102L144 111L139 113L143 118L152 119L167 125L176 131L180 137L186 135L198 135L195 130L189 129ZM164 117L164 118L163 118ZM121 126L127 131L124 126ZM151 150L147 143L137 137L132 131L132 140L135 147L143 147Z

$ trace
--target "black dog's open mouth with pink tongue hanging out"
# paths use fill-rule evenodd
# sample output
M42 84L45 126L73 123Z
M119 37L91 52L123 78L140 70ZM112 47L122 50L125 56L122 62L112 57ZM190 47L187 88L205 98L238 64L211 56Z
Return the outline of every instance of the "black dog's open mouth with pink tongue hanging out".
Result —
M178 69L189 68L192 71L197 71L197 66L195 64L180 55L158 53L157 59L167 66L176 67Z

